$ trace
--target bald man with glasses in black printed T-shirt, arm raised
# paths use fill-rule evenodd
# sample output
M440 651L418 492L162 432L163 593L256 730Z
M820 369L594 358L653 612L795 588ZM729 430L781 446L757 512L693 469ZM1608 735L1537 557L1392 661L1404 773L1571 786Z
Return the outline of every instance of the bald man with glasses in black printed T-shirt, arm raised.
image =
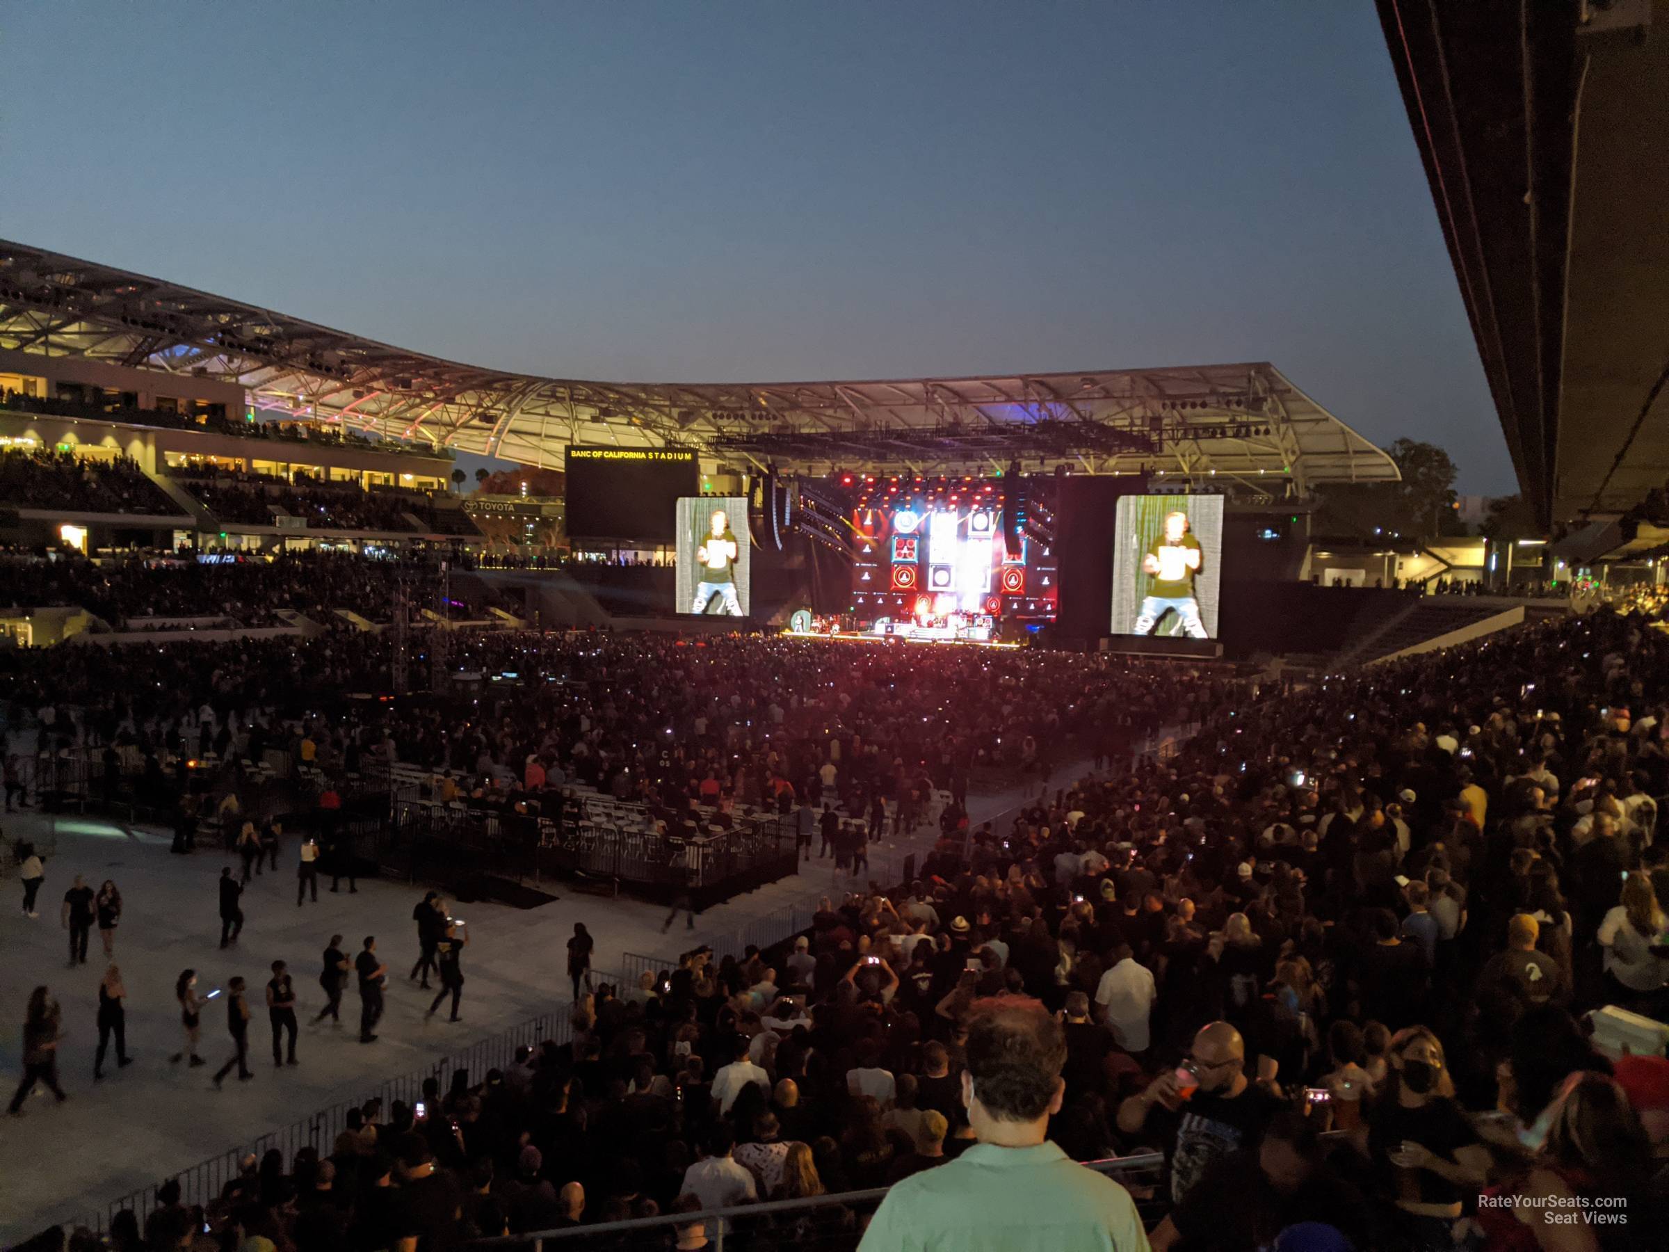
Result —
M1180 1204L1207 1167L1255 1143L1280 1100L1245 1072L1247 1045L1227 1022L1200 1027L1182 1063L1118 1105L1118 1128L1163 1143Z

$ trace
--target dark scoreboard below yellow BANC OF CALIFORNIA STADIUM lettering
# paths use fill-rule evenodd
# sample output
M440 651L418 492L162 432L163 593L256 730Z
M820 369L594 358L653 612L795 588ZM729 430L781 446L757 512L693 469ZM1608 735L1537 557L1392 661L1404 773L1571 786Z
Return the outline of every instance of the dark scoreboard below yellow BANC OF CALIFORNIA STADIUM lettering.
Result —
M673 543L673 509L701 489L701 462L679 447L569 446L566 528L571 539Z

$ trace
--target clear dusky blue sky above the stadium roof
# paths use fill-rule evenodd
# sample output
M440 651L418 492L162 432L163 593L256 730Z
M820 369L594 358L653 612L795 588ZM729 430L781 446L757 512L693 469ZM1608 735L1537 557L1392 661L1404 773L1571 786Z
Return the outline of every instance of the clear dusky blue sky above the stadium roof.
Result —
M0 234L633 381L1260 361L1512 491L1374 8L57 3Z

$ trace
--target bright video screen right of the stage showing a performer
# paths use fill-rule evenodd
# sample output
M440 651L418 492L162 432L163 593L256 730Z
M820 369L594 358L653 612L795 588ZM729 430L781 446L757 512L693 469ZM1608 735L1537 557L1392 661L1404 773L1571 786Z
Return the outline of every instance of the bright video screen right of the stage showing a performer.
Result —
M1112 633L1215 639L1222 554L1222 496L1120 496Z

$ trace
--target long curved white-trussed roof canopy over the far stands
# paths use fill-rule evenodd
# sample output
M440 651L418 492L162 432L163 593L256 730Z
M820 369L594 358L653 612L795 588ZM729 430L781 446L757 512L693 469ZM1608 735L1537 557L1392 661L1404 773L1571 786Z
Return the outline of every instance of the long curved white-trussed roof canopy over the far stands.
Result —
M587 382L464 366L0 240L0 347L242 384L274 416L561 466L567 444L726 464L1165 469L1285 494L1392 459L1267 362L885 382Z

